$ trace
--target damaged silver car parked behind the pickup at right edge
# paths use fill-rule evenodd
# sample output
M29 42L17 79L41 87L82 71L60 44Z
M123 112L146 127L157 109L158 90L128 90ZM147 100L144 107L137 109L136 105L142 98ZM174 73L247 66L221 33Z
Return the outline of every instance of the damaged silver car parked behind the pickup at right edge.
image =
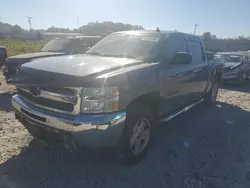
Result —
M219 52L216 55L225 60L224 82L242 84L250 76L250 62L246 52Z

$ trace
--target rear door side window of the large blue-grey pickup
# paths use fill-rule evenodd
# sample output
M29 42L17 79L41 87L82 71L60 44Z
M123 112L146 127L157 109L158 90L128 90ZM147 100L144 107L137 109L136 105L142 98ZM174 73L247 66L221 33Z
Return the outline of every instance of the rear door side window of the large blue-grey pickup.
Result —
M201 43L198 40L189 40L188 42L190 53L193 57L193 61L204 61L204 52L201 47Z

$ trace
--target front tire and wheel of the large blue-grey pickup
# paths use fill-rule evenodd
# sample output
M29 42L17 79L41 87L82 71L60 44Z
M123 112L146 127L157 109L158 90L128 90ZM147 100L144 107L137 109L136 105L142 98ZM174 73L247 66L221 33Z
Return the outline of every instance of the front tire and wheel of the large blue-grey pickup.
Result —
M122 152L129 163L137 163L147 153L152 139L154 115L144 105L130 106L123 130Z

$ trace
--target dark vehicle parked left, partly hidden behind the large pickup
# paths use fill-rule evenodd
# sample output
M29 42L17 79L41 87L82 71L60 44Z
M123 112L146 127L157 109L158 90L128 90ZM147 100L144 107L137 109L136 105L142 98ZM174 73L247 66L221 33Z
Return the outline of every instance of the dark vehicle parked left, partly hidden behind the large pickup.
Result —
M61 56L65 54L83 54L101 39L101 36L55 38L48 42L40 52L9 57L4 70L6 80L15 76L17 68L24 63L37 58Z

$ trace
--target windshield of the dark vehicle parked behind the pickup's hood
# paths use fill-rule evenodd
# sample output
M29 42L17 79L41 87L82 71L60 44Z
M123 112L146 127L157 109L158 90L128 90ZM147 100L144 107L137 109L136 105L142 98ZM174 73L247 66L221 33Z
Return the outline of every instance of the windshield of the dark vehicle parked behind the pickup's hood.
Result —
M70 52L71 39L53 39L48 42L43 48L42 52Z

